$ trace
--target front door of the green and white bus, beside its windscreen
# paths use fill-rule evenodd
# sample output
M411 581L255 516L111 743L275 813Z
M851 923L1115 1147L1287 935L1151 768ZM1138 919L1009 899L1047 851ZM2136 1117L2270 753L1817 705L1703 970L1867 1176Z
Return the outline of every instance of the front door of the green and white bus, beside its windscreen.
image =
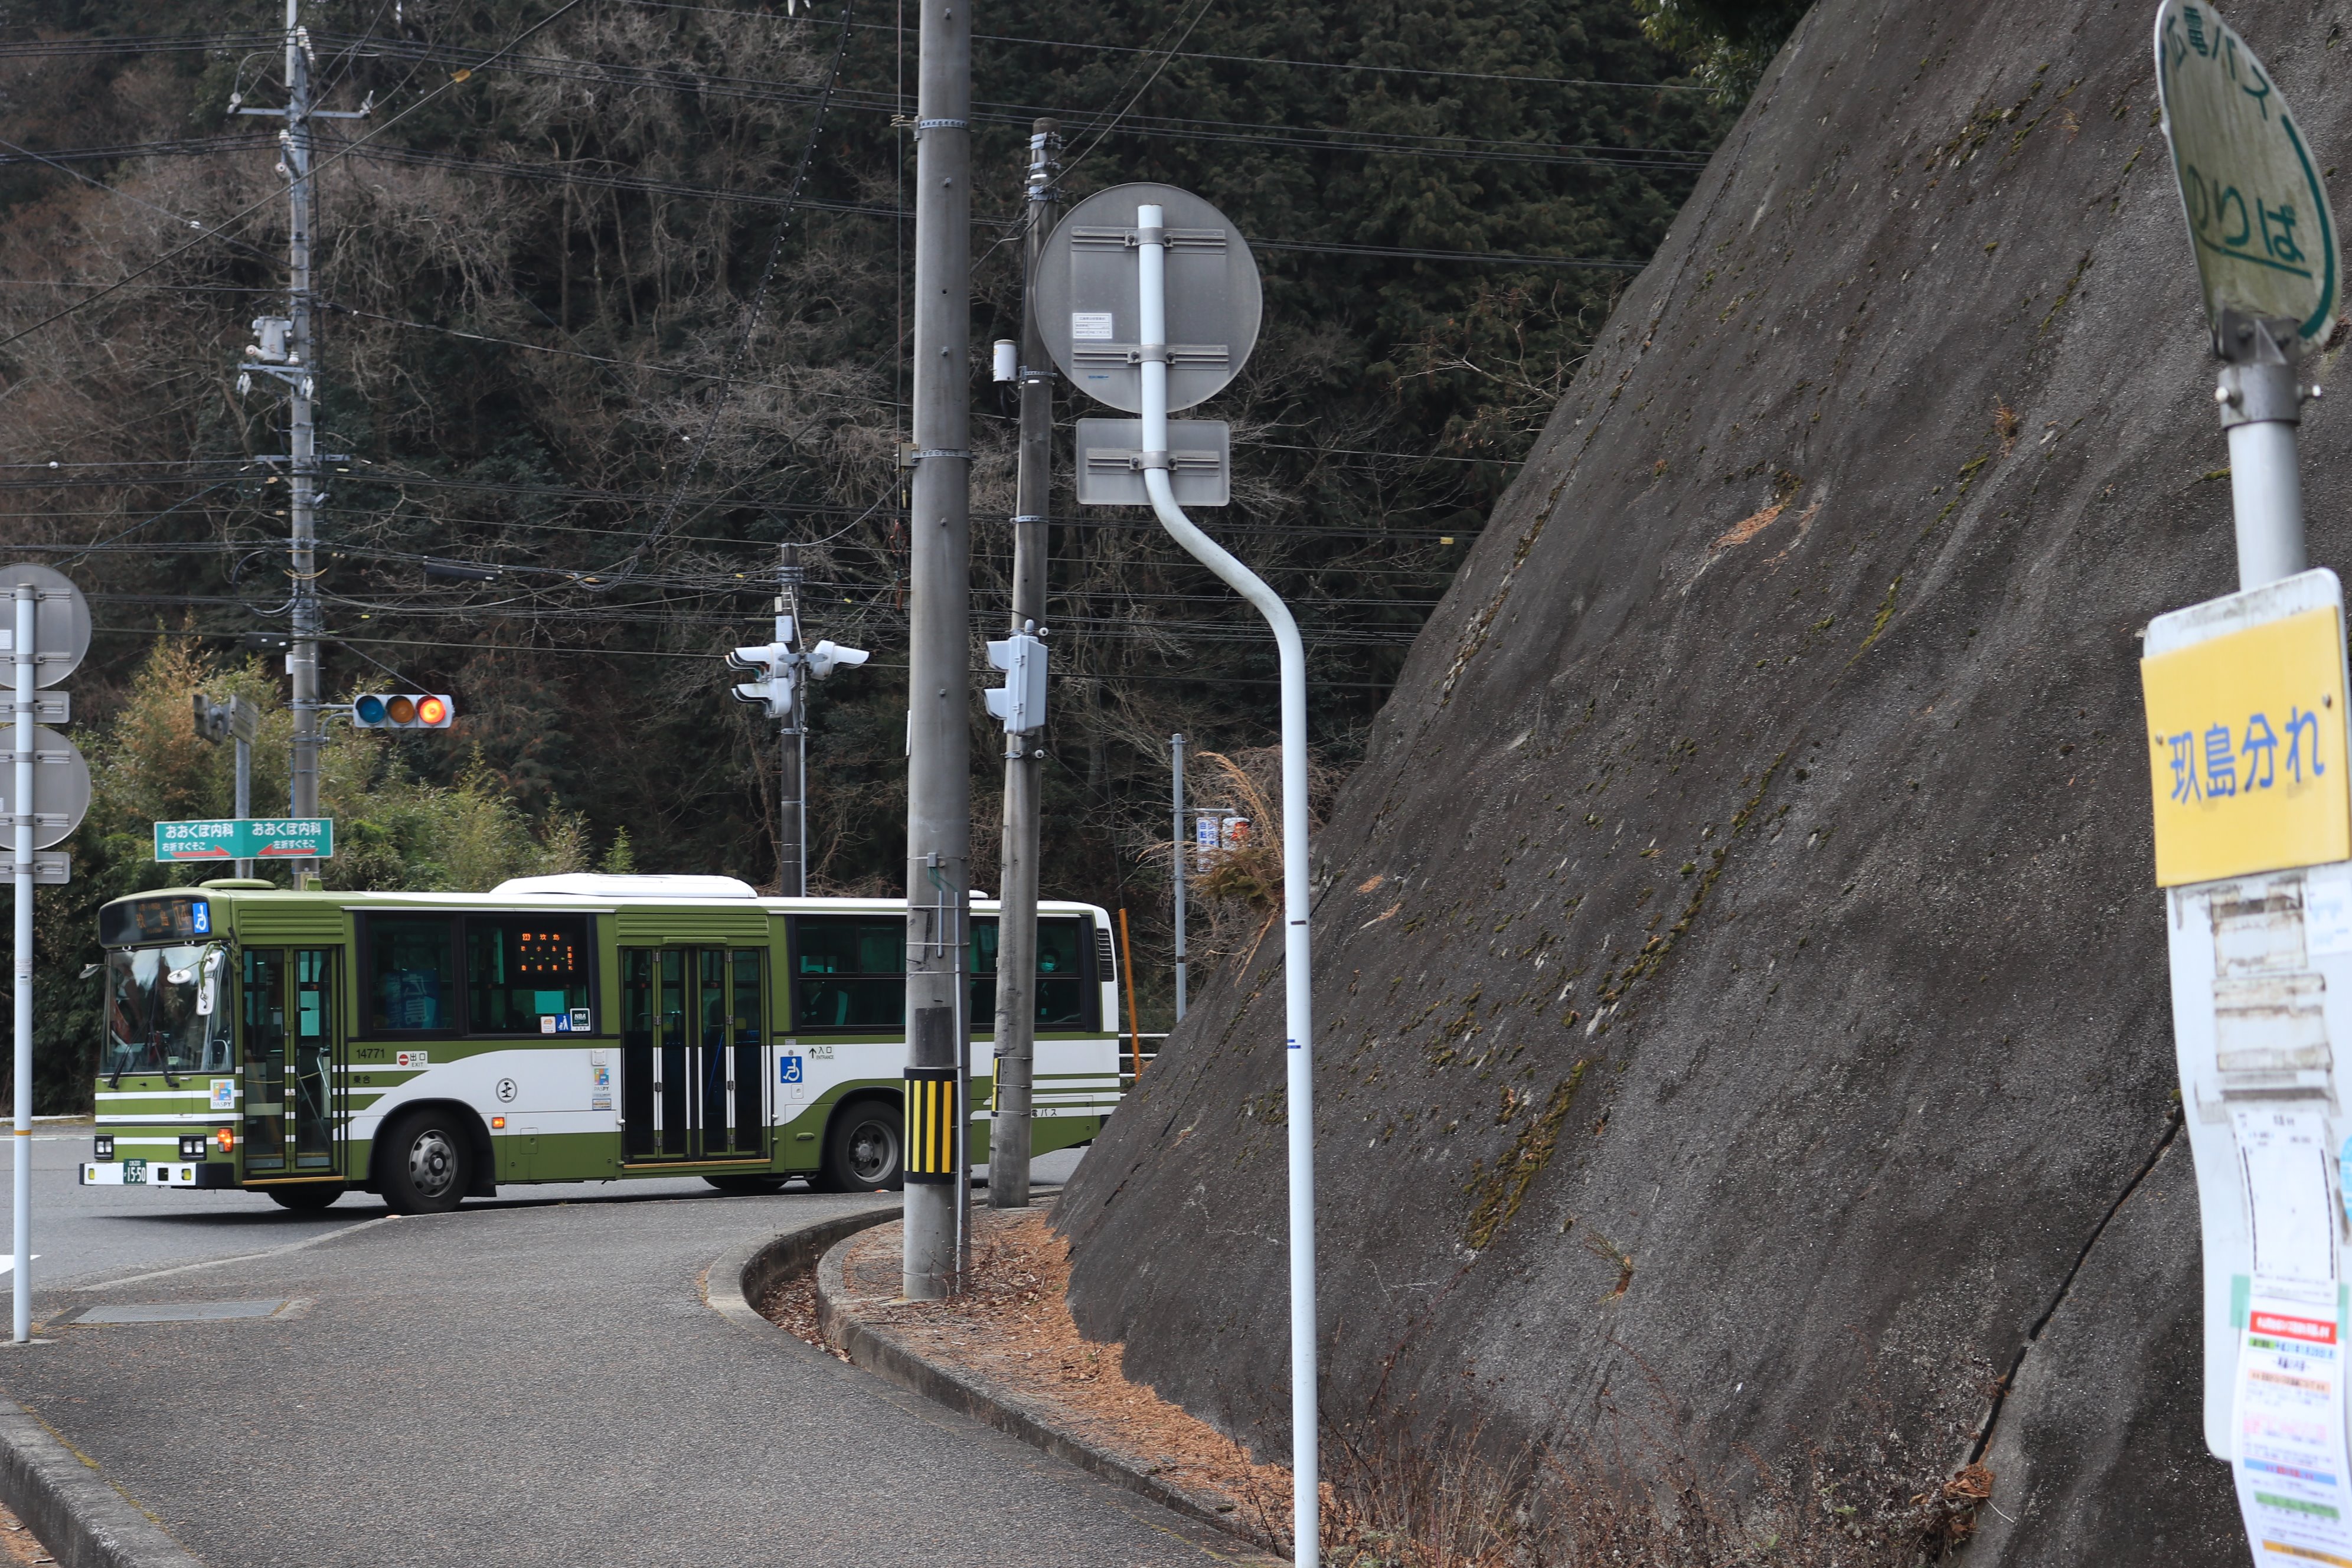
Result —
M332 947L245 950L245 1175L334 1182L346 1171L343 1032Z

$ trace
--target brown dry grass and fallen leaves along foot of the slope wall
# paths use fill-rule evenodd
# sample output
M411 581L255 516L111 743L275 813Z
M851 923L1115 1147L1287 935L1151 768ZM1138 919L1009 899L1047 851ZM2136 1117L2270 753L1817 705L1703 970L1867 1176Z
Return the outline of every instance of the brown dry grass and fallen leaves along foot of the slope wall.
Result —
M844 1276L861 1316L910 1352L993 1385L1000 1399L1047 1425L1160 1476L1258 1544L1289 1552L1289 1467L1254 1462L1242 1443L1129 1382L1120 1345L1077 1333L1068 1244L1042 1211L974 1213L971 1288L953 1302L891 1300L898 1246L896 1225L851 1241ZM774 1291L760 1309L818 1342L809 1279ZM1969 1540L1976 1509L1992 1497L1992 1472L1983 1465L1936 1479L1884 1441L1849 1460L1809 1446L1778 1467L1748 1453L1733 1474L1700 1474L1686 1458L1703 1446L1696 1422L1646 1368L1635 1387L1642 1408L1611 1403L1602 1422L1606 1443L1545 1446L1498 1441L1482 1425L1421 1420L1388 1396L1383 1375L1357 1418L1324 1429L1324 1561L1331 1568L1924 1568ZM1891 1422L1877 1413L1872 1425Z

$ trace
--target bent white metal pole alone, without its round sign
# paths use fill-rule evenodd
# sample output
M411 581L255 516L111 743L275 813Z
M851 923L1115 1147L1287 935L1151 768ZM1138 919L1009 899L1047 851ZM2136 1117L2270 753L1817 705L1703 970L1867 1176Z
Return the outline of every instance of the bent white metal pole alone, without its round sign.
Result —
M1289 1020L1291 1145L1291 1561L1322 1554L1315 1415L1315 990L1308 971L1308 651L1289 604L1200 531L1169 484L1167 235L1160 207L1136 207L1138 350L1143 357L1143 489L1160 524L1249 599L1282 654L1282 992Z

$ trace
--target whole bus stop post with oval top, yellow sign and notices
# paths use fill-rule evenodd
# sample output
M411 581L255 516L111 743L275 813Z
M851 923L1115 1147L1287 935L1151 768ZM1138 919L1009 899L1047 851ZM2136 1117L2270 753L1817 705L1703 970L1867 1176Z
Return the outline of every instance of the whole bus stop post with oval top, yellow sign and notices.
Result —
M2157 616L2147 701L2180 1110L2204 1232L2204 1432L2258 1568L2352 1561L2352 682L2305 569L2298 360L2343 263L2312 148L2204 0L2157 7L2157 89L2230 440L2239 592Z

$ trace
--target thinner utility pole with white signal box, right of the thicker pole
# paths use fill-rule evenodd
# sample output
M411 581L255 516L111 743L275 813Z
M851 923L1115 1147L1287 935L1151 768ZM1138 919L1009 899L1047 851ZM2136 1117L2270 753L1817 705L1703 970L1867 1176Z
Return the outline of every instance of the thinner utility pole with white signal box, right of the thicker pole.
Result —
M1030 129L1028 249L1023 280L1054 233L1061 193L1061 122ZM1037 303L1021 303L1021 475L1014 503L1011 630L1044 625L1047 517L1054 498L1054 367L1037 331ZM1004 736L1004 870L997 891L997 1077L988 1131L988 1206L1028 1208L1030 1112L1037 1079L1037 813L1044 748L1040 731Z

